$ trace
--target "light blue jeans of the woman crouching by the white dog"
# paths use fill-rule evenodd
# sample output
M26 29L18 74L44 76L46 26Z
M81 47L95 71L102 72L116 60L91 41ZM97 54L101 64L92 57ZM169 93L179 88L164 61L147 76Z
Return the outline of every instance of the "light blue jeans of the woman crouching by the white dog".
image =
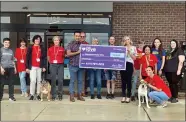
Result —
M152 91L149 93L151 100L156 101L158 104L162 104L164 101L167 101L169 97L163 91Z

